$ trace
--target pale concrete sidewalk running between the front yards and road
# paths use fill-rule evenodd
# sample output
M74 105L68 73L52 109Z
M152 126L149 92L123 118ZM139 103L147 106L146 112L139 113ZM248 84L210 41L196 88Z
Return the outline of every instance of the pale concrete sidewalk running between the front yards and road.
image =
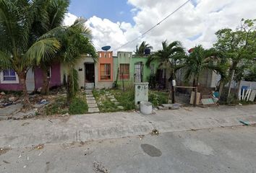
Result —
M56 119L0 121L0 146L12 148L40 143L72 143L160 133L256 123L256 105L237 107L182 107L158 110L153 115L138 112L111 112L74 115Z

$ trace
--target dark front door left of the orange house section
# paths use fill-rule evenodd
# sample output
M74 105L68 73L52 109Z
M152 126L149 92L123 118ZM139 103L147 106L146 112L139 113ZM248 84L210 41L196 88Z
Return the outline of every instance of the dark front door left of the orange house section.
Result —
M85 89L95 87L95 68L94 63L85 63Z

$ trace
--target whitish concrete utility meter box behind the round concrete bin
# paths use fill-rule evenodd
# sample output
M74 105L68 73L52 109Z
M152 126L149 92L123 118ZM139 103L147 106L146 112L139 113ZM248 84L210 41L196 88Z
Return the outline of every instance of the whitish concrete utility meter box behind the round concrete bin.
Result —
M135 83L135 105L140 107L140 102L148 102L148 82Z

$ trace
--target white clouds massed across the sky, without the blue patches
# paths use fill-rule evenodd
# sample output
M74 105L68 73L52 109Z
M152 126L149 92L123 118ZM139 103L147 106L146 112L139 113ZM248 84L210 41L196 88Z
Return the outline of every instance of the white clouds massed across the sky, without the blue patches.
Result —
M88 25L93 30L93 43L100 50L103 45L113 49L134 40L142 32L161 21L173 12L184 0L128 0L134 8L135 25L127 22L111 22L108 19L91 17ZM180 40L186 48L202 44L210 48L216 41L215 32L224 27L236 28L242 18L255 18L255 0L193 0L174 15L155 27L154 30L121 50L135 50L142 40L153 45L154 50L161 48L161 42ZM74 15L67 14L65 24L70 25ZM72 23L72 22L71 22ZM200 35L200 37L196 37ZM195 37L195 40L191 39Z

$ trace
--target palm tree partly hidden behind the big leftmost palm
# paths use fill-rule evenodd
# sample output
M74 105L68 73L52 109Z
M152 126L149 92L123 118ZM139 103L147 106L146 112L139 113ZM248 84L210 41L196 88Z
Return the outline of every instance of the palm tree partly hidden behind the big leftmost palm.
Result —
M43 30L38 32L38 35L41 36L46 34L54 28L61 27L65 14L67 13L69 7L69 0L49 0L46 6L46 12L48 14L48 20L46 22L46 27ZM48 94L49 92L49 79L48 79L48 69L51 65L59 61L59 55L56 55L46 61L40 63L40 68L43 70L43 86L40 91L41 94Z

